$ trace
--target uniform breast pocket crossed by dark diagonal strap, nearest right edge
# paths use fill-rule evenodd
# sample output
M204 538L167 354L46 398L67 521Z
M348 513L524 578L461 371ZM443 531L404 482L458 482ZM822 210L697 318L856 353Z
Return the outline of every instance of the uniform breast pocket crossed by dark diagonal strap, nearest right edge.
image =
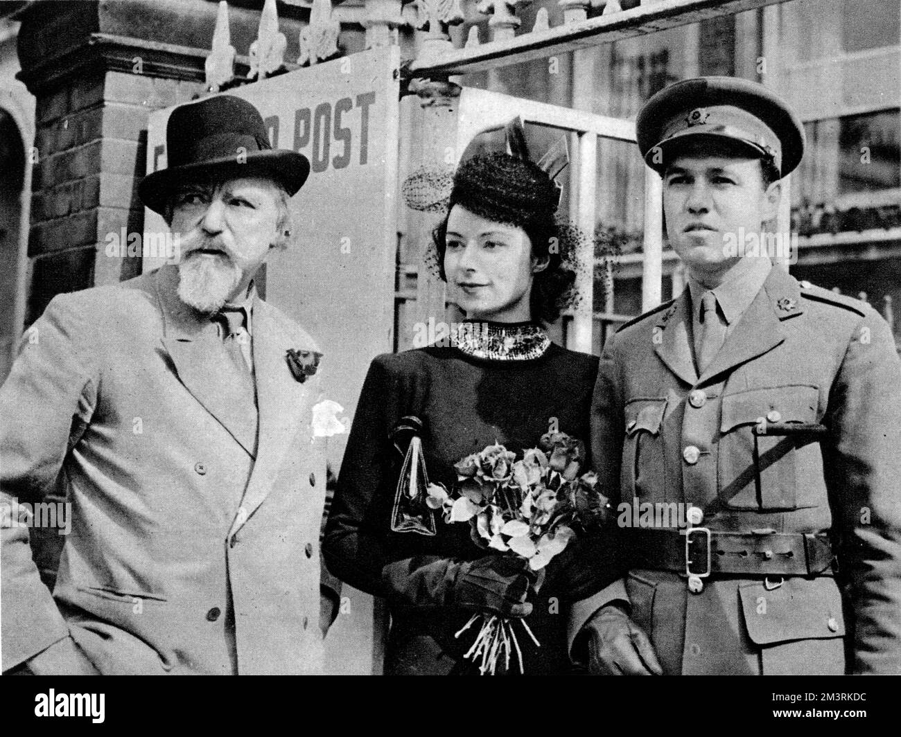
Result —
M774 423L816 423L817 387L751 389L723 397L720 500L729 509L787 511L817 504L823 461L813 434L758 435ZM810 494L805 494L810 487Z

